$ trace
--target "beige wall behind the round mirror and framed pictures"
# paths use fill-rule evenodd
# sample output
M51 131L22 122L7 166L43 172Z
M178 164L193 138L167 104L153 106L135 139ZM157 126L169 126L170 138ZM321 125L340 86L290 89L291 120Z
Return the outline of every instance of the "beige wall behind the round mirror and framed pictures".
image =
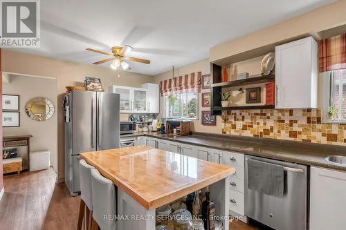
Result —
M37 122L30 119L25 112L26 102L34 97L45 97L53 102L57 108L57 81L42 77L28 77L11 75L9 82L3 82L3 93L19 95L20 127L3 127L3 135L31 134L30 150L39 151L48 149L51 151L51 165L57 171L57 113L45 122ZM26 149L19 149L26 162Z

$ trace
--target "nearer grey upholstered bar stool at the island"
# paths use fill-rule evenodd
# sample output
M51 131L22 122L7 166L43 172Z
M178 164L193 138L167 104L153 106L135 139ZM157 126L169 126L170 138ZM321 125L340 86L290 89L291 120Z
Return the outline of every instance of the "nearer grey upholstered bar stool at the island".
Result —
M91 187L93 220L102 230L116 230L116 186L97 169L91 169Z

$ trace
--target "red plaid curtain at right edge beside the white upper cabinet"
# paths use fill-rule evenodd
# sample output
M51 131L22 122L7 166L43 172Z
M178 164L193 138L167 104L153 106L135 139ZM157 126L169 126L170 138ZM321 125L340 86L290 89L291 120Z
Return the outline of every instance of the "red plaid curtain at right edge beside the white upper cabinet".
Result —
M318 72L346 68L346 34L318 41Z

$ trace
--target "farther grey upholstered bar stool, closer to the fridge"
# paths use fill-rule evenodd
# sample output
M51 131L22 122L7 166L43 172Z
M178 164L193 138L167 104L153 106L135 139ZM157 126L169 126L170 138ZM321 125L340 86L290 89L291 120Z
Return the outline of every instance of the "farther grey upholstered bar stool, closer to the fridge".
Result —
M84 227L86 227L86 229L91 228L91 214L93 210L91 169L95 168L87 164L85 160L80 160L80 215L78 216L78 230L82 229L83 218Z

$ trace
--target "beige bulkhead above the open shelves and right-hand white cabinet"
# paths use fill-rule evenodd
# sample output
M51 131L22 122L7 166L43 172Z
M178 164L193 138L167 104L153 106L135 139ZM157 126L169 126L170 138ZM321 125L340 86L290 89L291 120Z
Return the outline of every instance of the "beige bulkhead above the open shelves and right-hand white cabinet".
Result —
M346 0L323 6L304 15L269 26L257 32L227 41L210 49L210 61L224 59L248 50L275 44L293 37L312 34L346 23Z

